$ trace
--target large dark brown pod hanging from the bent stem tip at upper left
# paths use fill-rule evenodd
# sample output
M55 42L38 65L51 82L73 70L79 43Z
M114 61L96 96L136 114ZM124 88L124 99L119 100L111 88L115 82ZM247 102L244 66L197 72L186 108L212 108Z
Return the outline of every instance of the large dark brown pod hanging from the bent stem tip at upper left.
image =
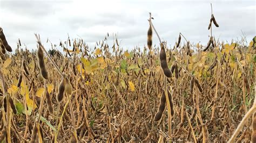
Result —
M39 67L41 69L41 74L46 80L48 80L48 72L45 68L45 63L44 63L44 52L41 46L38 47L37 57L38 57Z

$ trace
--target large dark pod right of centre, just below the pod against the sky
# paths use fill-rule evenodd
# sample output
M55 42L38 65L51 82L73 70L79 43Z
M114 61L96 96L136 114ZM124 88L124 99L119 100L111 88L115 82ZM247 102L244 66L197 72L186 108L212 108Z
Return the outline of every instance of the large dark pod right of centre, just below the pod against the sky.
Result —
M166 77L172 77L171 70L168 67L167 61L166 61L166 52L164 49L164 43L162 42L160 44L161 51L160 51L160 62L161 62L161 68L164 70L164 75Z

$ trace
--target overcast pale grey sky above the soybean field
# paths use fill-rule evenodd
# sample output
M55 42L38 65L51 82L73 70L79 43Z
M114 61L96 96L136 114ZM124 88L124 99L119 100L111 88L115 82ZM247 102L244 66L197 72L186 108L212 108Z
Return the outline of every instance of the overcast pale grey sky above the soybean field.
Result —
M242 32L250 41L256 34L256 4L253 1L11 1L0 0L0 27L12 48L18 38L28 49L36 48L34 33L53 44L82 37L91 47L103 40L106 33L118 34L120 46L133 48L146 45L149 12L154 18L161 39L174 45L179 32L191 42L207 44L207 30L214 17L220 27L213 27L213 35L220 40L241 38ZM242 32L241 32L242 31ZM108 38L112 44L112 37ZM153 44L159 44L153 33Z

